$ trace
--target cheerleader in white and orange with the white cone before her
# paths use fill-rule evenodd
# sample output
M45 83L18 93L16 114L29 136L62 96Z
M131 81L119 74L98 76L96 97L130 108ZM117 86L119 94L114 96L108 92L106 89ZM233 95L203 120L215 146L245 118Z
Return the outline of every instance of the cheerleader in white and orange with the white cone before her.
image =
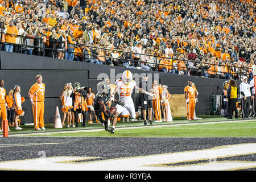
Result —
M171 122L172 121L172 113L170 109L170 104L169 104L169 98L171 97L171 94L167 90L167 86L163 85L163 92L162 92L162 104L163 104L163 121L166 122Z

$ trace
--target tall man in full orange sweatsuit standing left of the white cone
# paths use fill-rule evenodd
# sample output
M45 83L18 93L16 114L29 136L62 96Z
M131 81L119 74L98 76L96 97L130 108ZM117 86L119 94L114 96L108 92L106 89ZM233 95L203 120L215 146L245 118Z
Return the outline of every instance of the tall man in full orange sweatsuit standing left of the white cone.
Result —
M32 112L34 117L34 129L46 130L44 127L44 95L46 85L43 84L43 76L36 76L36 83L31 86L28 97L30 98L32 105Z

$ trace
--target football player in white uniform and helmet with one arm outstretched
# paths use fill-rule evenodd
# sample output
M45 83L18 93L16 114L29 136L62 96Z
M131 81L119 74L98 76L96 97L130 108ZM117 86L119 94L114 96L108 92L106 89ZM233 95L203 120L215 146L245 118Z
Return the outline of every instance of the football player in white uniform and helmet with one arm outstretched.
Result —
M133 93L134 88L139 90L139 92L145 93L151 97L154 96L154 94L146 92L142 88L136 86L136 82L133 80L133 75L131 74L130 71L127 70L123 72L122 80L115 81L115 85L117 86L114 89L113 96L116 92L118 92L119 100L125 103L125 107L118 104L115 106L117 107L117 112L115 113L115 117L113 119L113 125L108 130L110 133L114 133L115 123L117 123L117 117L125 109L129 111L130 116L133 119L137 118L138 115L141 114L141 112L139 111L135 113L133 99L131 98L131 93Z

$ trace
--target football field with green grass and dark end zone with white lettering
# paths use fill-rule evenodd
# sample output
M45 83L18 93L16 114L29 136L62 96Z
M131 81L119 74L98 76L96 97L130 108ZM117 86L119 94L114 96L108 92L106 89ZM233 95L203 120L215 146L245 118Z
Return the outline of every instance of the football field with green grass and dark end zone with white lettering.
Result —
M197 121L143 125L122 122L115 133L100 123L35 131L12 127L0 144L2 170L205 171L256 169L256 120L199 116ZM81 125L81 123L80 123Z

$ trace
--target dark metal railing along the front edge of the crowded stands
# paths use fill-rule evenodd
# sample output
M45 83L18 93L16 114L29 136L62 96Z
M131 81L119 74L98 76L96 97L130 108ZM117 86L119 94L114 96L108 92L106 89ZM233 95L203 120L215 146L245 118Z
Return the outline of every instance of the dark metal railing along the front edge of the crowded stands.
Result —
M26 39L33 39L34 42L35 40L39 40L42 41L42 37L39 37L39 36L36 36L35 38L32 38L30 36L21 36L21 35L18 35L20 36L20 39L23 39L22 41L22 44L13 44L12 45L14 47L20 47L19 49L19 52L18 53L23 53L24 50L26 50L27 48L33 48L34 50L36 49L42 49L42 51L40 51L40 54L38 54L38 51L34 51L34 55L40 55L40 56L47 56L47 57L51 57L51 53L50 52L53 52L53 57L55 57L55 55L58 53L58 52L64 52L64 53L73 53L74 55L81 55L80 56L80 59L79 61L83 61L83 62L86 62L89 59L86 59L86 57L92 57L94 59L91 59L91 60L95 60L97 59L97 57L104 57L104 62L106 62L106 59L110 59L111 60L111 63L113 63L113 60L117 60L117 63L119 63L118 65L121 65L122 67L124 66L125 63L133 63L133 64L129 64L129 67L130 65L135 65L135 66L138 66L140 65L141 63L143 64L149 64L149 65L154 65L153 67L150 67L150 69L152 69L153 71L160 71L159 68L162 68L162 67L170 67L171 69L168 69L168 72L171 72L171 73L178 73L179 74L179 71L183 71L186 75L189 73L189 71L193 74L193 72L197 72L199 74L197 74L196 76L205 76L205 77L213 77L213 78L223 78L223 75L224 75L224 78L241 78L243 75L246 75L247 77L253 77L252 76L252 73L250 74L247 70L251 69L250 67L235 67L235 66L227 66L225 65L225 67L228 68L228 72L221 72L221 71L216 71L216 68L220 67L221 65L219 64L212 64L212 63L202 63L201 61L196 61L196 60L183 60L183 59L176 59L176 58L172 58L172 57L164 57L164 56L158 56L158 55L148 55L148 54L144 54L144 53L135 53L135 52L128 52L128 51L122 51L122 50L118 50L118 49L111 49L111 48L105 48L105 47L97 47L97 46L86 46L85 44L73 44L74 47L73 47L73 52L68 52L67 49L64 49L64 50L60 50L57 48L57 44L59 43L64 43L64 42L59 42L57 40L49 40L47 39L46 43L50 43L53 44L54 48L49 48L48 46L46 46L46 43L42 43L41 45L42 46L28 46L28 45L25 45L24 43L26 42ZM5 45L5 44L11 44L11 43L1 43L2 45ZM65 43L63 44L65 45ZM81 47L83 48L83 51L82 52L75 52L75 48L76 47ZM85 49L90 49L90 52L91 53L86 53ZM104 51L104 56L103 55L98 55L98 54L93 54L92 52L97 52L97 50L100 49ZM119 53L119 57L112 57L112 56L109 56L109 55L106 55L106 51L116 51ZM49 55L50 54L50 55ZM128 56L130 57L125 57L123 54L128 54ZM131 56L133 55L133 56ZM137 60L134 59L134 55L137 55L139 56L137 58ZM142 56L147 56L148 58L152 59L152 57L154 57L153 60L154 63L152 61L142 61L141 60L141 57ZM129 59L129 58L133 58L133 59ZM159 60L158 60L159 59ZM169 61L169 63L171 64L160 64L160 61L161 59L167 59ZM204 59L204 57L199 57L199 59ZM98 59L97 59L98 60ZM119 62L118 62L119 60ZM100 61L100 60L99 60ZM130 61L130 62L129 62ZM179 61L183 61L184 65L185 66L180 66L180 65L177 65L176 63L174 64L174 62L179 62ZM197 63L199 64L199 68L196 68L196 67L189 67L189 62L191 63ZM117 65L116 63L116 65ZM106 64L106 63L102 63L102 64ZM208 65L208 66L205 66L205 65ZM214 65L214 70L208 70L210 68L211 65ZM236 69L236 71L238 72L235 72L233 73L233 69ZM244 70L245 69L245 70ZM214 74L209 74L209 73L214 73ZM223 73L223 74L222 74ZM235 77L233 77L234 75L236 75ZM195 76L195 75L194 75Z

